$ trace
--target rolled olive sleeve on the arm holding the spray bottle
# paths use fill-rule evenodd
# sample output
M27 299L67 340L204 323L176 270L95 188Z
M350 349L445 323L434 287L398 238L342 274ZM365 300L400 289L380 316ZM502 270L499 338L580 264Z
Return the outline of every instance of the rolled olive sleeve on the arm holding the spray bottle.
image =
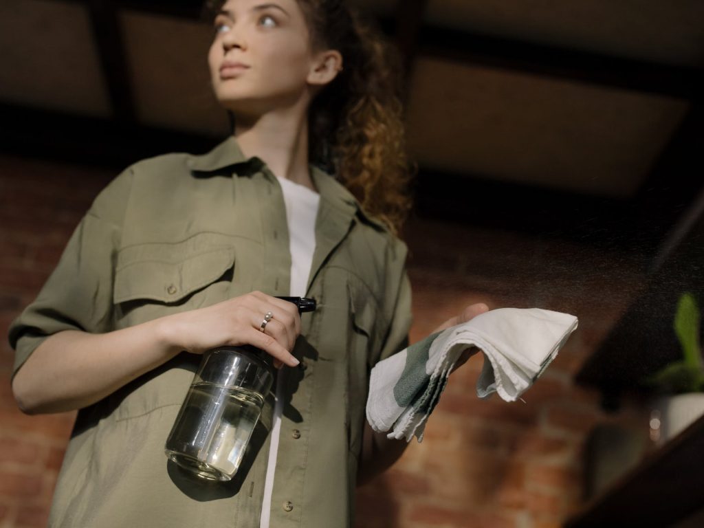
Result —
M13 377L42 341L63 330L110 331L113 275L131 168L103 189L70 237L37 298L9 329Z

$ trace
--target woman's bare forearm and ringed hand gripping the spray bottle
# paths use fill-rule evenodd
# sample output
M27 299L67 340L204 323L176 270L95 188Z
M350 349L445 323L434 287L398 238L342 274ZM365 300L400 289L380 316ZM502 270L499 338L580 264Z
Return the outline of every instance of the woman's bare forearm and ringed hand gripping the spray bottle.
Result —
M263 315L274 313L266 334ZM168 315L105 334L66 330L48 337L20 367L12 382L23 412L59 413L100 401L181 351L203 353L221 345L251 344L278 362L291 356L301 320L293 303L260 292Z

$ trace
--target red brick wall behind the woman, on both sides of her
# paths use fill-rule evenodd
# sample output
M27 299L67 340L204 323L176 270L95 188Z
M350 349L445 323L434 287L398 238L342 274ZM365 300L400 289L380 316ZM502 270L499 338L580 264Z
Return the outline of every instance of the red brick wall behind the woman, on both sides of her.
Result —
M37 294L70 232L115 173L0 156L0 327ZM422 444L358 491L365 528L558 527L579 506L596 394L572 383L639 287L629 255L510 232L413 220L412 339L467 303L574 313L579 329L526 403L479 401L479 357L455 372ZM46 524L73 413L28 417L11 396L12 351L0 342L0 528ZM627 409L618 420L640 420Z

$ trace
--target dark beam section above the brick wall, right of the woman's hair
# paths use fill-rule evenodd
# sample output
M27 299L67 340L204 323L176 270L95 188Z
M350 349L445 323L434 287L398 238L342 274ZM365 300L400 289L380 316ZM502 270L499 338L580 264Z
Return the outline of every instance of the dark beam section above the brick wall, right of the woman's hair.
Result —
M421 169L414 195L420 218L628 250L643 261L653 256L671 227L662 222L634 244L639 209L632 200L502 182L488 175Z

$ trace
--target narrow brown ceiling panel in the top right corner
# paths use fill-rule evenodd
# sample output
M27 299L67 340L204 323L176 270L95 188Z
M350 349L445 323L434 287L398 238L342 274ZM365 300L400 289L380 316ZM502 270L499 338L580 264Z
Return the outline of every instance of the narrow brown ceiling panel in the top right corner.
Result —
M704 66L702 0L429 0L427 21L567 49Z

